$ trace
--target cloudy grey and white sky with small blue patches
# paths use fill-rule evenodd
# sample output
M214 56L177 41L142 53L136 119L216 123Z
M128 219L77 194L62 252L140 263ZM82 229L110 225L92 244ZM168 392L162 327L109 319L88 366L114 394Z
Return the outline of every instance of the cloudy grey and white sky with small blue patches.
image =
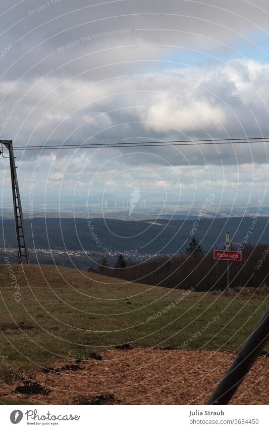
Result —
M0 132L22 193L267 201L267 145L113 148L269 136L266 0L2 0ZM2 205L9 199L1 158Z

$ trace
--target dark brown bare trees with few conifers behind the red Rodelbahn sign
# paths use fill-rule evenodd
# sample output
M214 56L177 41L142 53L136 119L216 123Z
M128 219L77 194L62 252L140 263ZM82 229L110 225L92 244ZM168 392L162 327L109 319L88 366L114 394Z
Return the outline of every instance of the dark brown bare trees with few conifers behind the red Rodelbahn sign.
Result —
M245 245L242 262L230 263L231 288L269 285L266 249L268 246L262 244ZM204 252L195 237L181 254L158 255L142 263L126 261L120 254L115 267L101 264L98 271L127 281L169 288L219 291L227 287L227 261L213 260L212 251Z

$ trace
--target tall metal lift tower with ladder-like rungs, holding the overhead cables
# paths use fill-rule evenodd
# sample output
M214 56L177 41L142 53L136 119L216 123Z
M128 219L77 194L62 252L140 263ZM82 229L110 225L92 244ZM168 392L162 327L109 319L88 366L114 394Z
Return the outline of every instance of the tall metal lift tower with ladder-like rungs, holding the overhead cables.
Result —
M3 157L4 157L3 145L5 145L9 150L11 185L12 185L12 194L13 194L13 207L14 207L14 217L15 217L15 224L16 224L19 263L28 263L29 253L28 253L26 237L25 237L22 204L21 204L20 191L19 191L19 185L18 185L18 179L17 179L12 140L0 140L0 143L2 144L2 151L0 151L0 153L2 153Z

